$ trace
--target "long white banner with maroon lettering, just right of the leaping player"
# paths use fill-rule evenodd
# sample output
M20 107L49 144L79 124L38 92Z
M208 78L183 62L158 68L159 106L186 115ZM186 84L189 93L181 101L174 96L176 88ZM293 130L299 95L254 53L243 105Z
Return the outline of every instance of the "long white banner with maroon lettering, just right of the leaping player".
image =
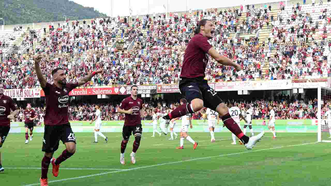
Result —
M222 81L215 83L216 91L237 90L280 90L291 89L291 79L265 80L265 81Z

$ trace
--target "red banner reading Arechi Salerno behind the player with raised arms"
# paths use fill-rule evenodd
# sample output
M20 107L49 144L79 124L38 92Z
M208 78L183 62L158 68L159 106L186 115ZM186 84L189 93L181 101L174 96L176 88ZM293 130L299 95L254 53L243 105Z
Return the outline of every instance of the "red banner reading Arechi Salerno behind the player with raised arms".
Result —
M69 92L69 96L87 96L101 94L118 94L118 87L103 87L103 88L75 88ZM40 91L41 96L45 96L43 90Z

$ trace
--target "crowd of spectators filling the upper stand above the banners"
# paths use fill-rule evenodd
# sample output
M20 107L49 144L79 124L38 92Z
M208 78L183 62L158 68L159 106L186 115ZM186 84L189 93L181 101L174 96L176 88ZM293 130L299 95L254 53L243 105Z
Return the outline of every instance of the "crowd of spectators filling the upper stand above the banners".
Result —
M62 67L69 82L95 69L105 69L84 86L177 83L193 30L201 19L210 19L216 27L211 44L242 66L241 71L235 71L211 59L206 70L210 82L329 77L329 7L322 4L305 11L306 6L297 4L285 9L281 5L277 14L272 14L271 5L265 4L257 8L247 6L246 13L240 6L190 10L182 15L175 12L169 17L153 14L153 18L146 15L141 19L98 18L91 24L86 21L70 24L66 20L58 28L49 23L44 31L26 34L22 44L34 48L3 60L0 75L9 89L39 87L32 59L35 54L44 54L41 69L49 82L51 70ZM270 34L260 40L256 36L262 29ZM46 31L49 33L45 37ZM242 34L248 35L240 37ZM132 40L135 41L132 50L125 50ZM114 42L120 47L114 46Z

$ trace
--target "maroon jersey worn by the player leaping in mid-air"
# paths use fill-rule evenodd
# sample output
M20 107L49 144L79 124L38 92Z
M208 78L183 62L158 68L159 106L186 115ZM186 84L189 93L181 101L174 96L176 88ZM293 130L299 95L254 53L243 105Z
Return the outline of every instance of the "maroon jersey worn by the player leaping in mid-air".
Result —
M180 77L205 77L209 60L208 50L213 46L201 33L196 34L187 45Z

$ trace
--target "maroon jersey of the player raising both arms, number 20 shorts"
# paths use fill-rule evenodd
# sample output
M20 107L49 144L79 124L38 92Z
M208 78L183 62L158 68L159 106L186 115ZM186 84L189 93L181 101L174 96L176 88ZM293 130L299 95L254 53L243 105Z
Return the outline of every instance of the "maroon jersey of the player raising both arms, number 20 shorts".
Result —
M43 88L46 99L45 125L63 125L69 123L69 92L78 86L78 83L67 83L58 88L55 84L46 83Z

